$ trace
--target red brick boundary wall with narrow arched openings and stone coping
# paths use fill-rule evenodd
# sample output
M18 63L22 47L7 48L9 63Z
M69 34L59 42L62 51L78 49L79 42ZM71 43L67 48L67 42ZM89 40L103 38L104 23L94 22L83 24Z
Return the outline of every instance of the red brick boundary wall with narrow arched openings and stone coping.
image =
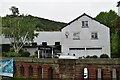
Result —
M24 76L21 76L21 66L24 67ZM32 76L30 74L32 66ZM38 68L41 67L41 77ZM88 79L96 80L120 80L120 59L35 59L35 58L14 58L14 77L17 78L64 78L83 80L84 68L88 69ZM98 73L98 69L99 72ZM113 79L112 79L113 78Z

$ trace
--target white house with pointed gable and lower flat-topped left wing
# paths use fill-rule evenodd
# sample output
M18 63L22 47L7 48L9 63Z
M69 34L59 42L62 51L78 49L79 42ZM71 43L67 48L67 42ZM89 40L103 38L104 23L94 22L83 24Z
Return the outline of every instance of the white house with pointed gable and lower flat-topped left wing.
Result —
M61 45L61 53L75 57L101 54L110 56L110 30L94 18L83 14L68 23L61 32L37 32L38 45ZM43 53L42 53L43 54Z

